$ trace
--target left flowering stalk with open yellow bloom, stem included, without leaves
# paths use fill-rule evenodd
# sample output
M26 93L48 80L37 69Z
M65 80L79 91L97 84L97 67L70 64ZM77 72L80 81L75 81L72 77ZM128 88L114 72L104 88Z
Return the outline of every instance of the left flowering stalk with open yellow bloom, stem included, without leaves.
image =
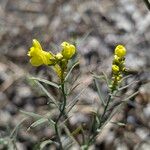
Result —
M54 55L52 52L46 52L42 49L40 43L34 39L33 46L30 48L28 52L28 56L31 58L30 63L33 66L47 65L52 66L53 70L57 74L60 79L60 91L62 93L62 99L59 106L59 115L55 121L54 127L56 132L56 137L59 142L59 149L63 150L63 144L61 142L61 135L59 133L59 121L64 116L66 119L66 102L67 97L65 93L65 75L67 70L68 61L73 57L76 52L76 48L74 45L69 44L67 42L63 42L61 44L62 50L61 52Z

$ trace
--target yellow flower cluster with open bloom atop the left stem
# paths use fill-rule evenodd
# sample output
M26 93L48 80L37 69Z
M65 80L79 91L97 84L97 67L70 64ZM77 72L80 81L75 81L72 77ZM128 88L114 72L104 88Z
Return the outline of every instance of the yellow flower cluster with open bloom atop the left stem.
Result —
M52 52L44 51L41 44L36 39L33 39L32 47L27 55L30 57L30 63L33 66L53 66L57 75L63 79L68 60L73 57L76 52L76 48L74 45L67 42L63 42L61 47L61 52L55 55Z

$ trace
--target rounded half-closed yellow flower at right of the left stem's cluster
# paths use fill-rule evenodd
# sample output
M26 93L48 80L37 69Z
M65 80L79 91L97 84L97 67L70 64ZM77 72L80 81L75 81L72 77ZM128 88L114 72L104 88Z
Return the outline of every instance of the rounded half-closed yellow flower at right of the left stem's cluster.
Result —
M62 55L65 59L69 60L75 54L76 48L74 45L67 42L63 42L62 46Z

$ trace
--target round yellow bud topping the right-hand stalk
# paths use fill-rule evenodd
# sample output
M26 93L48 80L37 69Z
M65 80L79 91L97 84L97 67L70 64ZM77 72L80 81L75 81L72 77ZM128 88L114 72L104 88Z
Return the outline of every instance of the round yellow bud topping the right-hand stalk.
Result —
M118 45L115 48L115 55L120 58L124 57L126 55L126 48L123 45Z

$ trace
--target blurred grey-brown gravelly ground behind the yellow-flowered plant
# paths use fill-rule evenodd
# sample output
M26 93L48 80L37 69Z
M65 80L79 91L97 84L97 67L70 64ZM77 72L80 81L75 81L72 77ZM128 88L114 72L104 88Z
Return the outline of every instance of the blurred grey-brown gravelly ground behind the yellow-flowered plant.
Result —
M34 38L53 52L63 41L77 42L80 66L75 74L80 74L82 85L74 95L87 88L71 118L73 125L88 122L87 114L98 103L90 72L110 76L114 48L125 45L126 66L132 73L128 83L140 82L123 94L137 90L139 94L115 116L126 126L107 126L93 149L150 149L150 13L143 1L0 0L0 138L10 135L25 117L19 110L39 114L50 110L47 97L27 79L32 74L56 80L47 67L29 64L27 51ZM101 82L101 90L105 97L106 83ZM52 88L50 92L57 94ZM32 150L37 141L53 136L46 126L27 131L32 122L29 119L18 131L18 150Z

